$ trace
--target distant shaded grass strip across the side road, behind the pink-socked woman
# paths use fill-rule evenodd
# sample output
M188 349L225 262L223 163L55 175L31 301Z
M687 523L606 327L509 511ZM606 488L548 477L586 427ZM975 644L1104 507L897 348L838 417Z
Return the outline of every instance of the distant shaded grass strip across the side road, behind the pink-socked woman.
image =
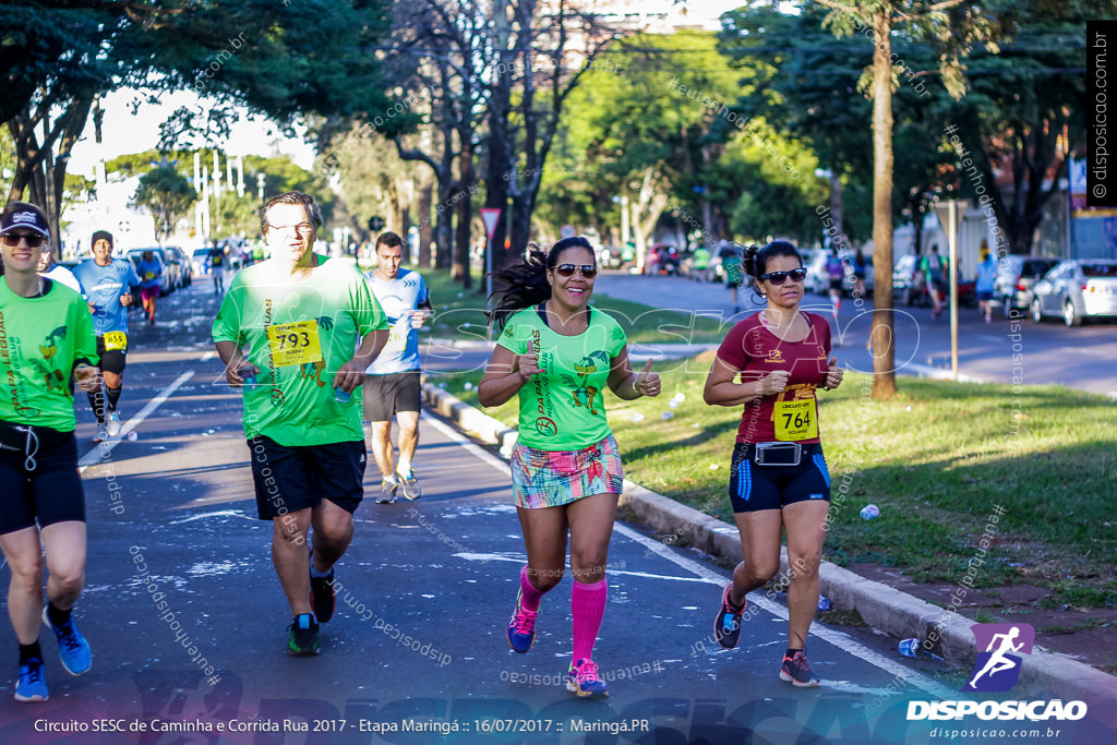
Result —
M438 338L484 340L487 337L483 284L474 277L474 286L464 289L450 279L445 270L423 271L430 288L435 318L431 334ZM594 295L593 306L613 316L629 341L634 344L716 344L725 338L726 328L708 317L677 311L661 311L640 303L619 300L605 295Z

